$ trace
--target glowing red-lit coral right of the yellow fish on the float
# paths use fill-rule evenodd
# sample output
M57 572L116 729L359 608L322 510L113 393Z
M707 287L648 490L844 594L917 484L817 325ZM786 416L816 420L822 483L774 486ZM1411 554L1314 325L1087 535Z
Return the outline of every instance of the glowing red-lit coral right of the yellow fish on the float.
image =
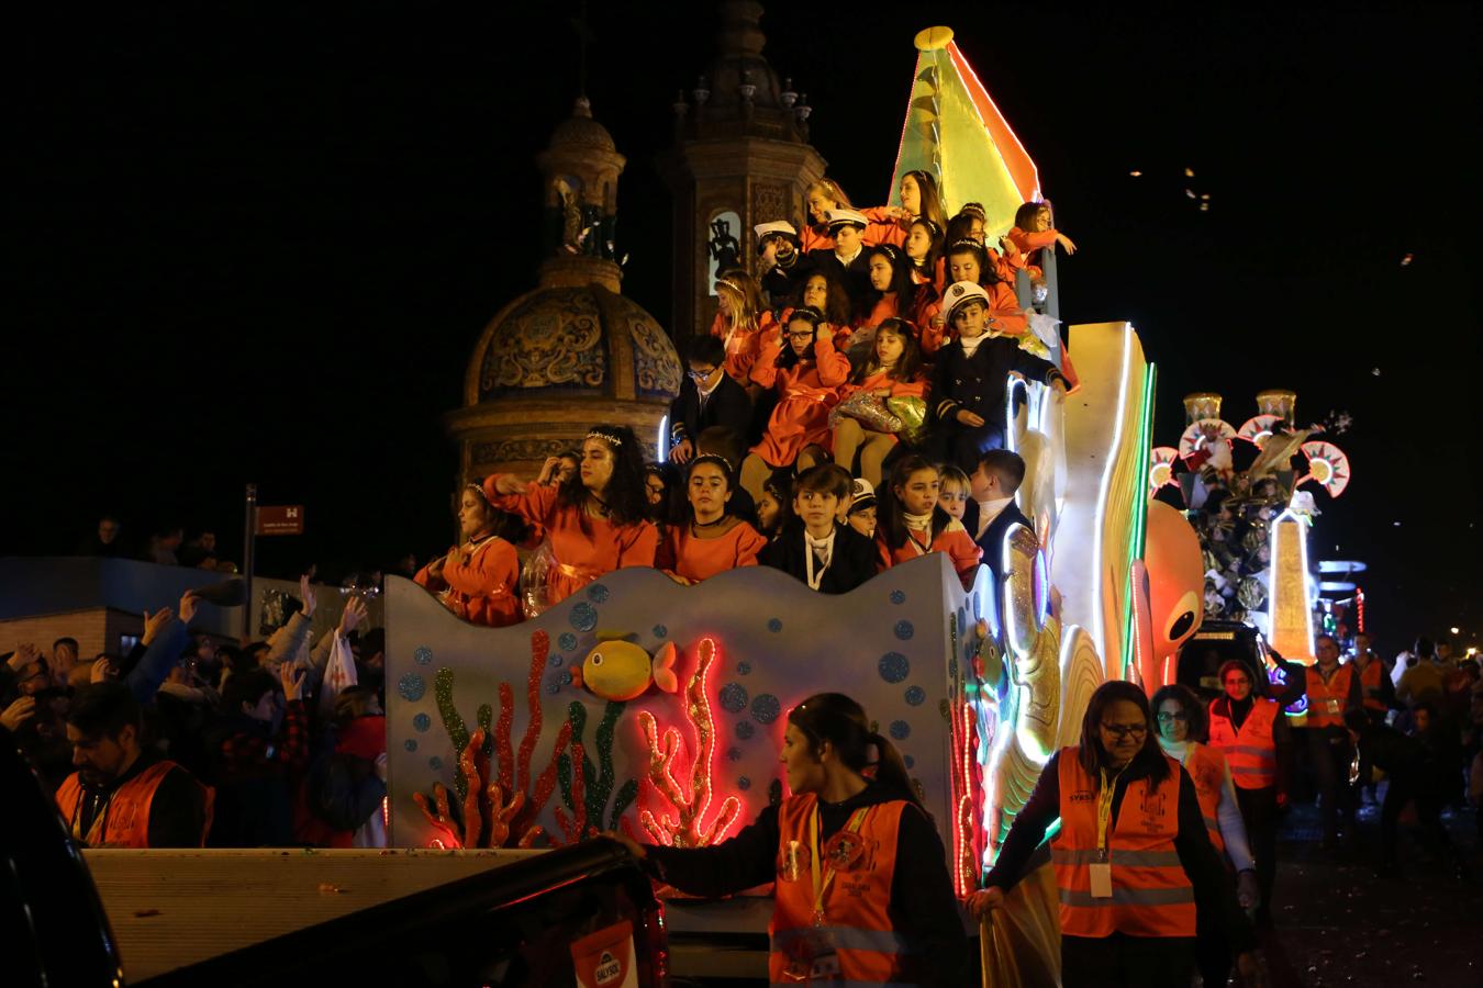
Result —
M648 711L639 714L639 724L644 729L644 741L650 752L648 781L678 813L678 819L670 813L663 813L661 818L655 819L653 812L644 810L641 819L651 840L675 847L706 847L719 841L742 812L742 801L731 795L721 804L715 819L709 825L704 824L706 812L710 809L710 773L716 748L707 681L710 667L716 659L716 643L710 638L701 638L697 652L696 671L685 684L684 707L685 721L694 735L693 748L697 752L694 760L688 760L688 792L675 781L676 763L681 772L687 767L687 745L679 730L666 727L664 741L660 744L654 715Z

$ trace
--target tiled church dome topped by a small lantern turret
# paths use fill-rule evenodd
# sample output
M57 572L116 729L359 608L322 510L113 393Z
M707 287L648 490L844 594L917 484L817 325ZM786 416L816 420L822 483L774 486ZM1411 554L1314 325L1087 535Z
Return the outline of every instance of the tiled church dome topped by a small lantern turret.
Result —
M679 391L673 344L623 295L612 231L624 157L592 119L586 96L537 161L540 286L480 333L464 373L464 407L445 416L460 447L460 481L500 471L534 475L547 456L580 449L599 422L632 427L644 458L655 459L660 425Z

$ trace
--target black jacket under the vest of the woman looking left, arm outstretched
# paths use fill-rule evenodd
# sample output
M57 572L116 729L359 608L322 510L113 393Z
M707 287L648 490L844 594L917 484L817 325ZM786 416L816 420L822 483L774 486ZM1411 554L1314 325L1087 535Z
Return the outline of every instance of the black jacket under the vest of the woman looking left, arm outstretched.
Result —
M872 782L842 803L820 800L819 840L842 830L857 807L900 798L906 798L900 791ZM645 864L661 880L691 895L722 896L768 884L777 877L782 840L777 812L776 803L768 806L750 827L710 847L647 847ZM970 984L971 961L946 858L931 821L915 806L908 806L896 837L896 871L887 914L893 929L918 942L918 957L928 958L922 985Z

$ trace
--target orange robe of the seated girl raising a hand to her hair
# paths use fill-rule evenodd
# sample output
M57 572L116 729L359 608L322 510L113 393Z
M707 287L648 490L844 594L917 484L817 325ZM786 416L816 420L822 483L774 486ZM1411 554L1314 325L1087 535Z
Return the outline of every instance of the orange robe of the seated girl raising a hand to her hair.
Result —
M752 367L752 381L777 391L777 404L767 421L762 441L752 447L768 467L792 467L807 446L830 446L829 409L839 400L839 385L850 379L850 358L833 341L814 344L814 358L786 370L777 367L782 335L762 347Z

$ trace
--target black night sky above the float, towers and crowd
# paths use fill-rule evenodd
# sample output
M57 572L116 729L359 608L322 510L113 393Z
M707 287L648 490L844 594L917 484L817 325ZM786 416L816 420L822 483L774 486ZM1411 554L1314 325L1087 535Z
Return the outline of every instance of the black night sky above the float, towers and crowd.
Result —
M142 4L18 31L0 551L67 551L105 507L135 536L174 517L239 544L248 480L308 507L310 535L264 541L268 570L440 551L439 415L534 286L534 154L577 90L575 6ZM654 156L715 12L589 16L595 114L629 157L626 292L667 324ZM1295 388L1304 422L1348 410L1355 478L1317 495L1315 554L1370 563L1390 649L1483 631L1465 6L774 4L762 24L862 203L887 193L912 36L952 25L1081 247L1065 317L1129 318L1158 363L1155 441L1192 390L1237 425L1264 387Z

